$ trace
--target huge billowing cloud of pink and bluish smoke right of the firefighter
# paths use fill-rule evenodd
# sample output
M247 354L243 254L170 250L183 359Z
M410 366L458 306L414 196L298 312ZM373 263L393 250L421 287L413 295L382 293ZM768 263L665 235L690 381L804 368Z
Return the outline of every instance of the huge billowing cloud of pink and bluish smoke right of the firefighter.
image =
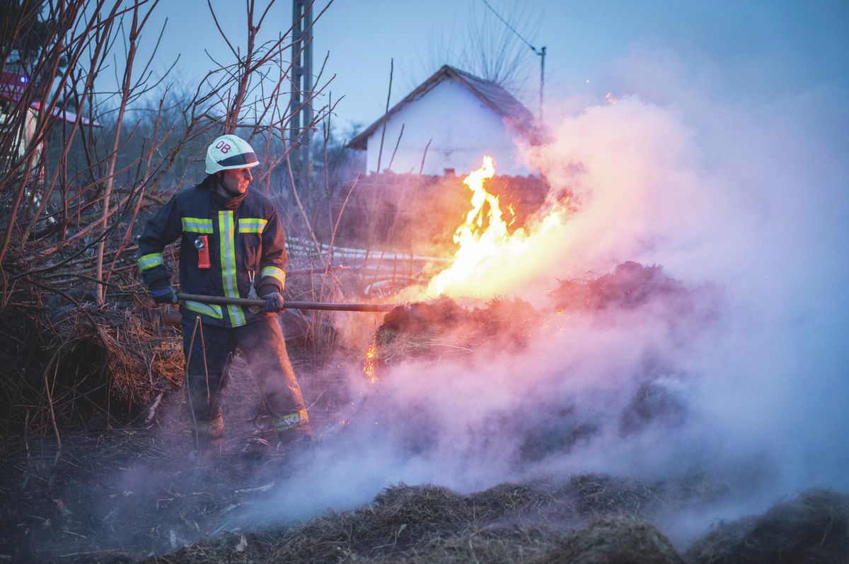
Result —
M393 483L477 491L552 474L698 474L730 492L696 511L701 531L801 489L849 488L846 162L787 117L805 110L795 103L739 120L739 105L721 99L625 95L564 117L528 159L574 209L532 250L476 271L491 296L540 312L526 346L403 360L379 393L352 370L351 424L263 517L349 508ZM626 261L711 288L694 299L712 314L661 296L568 315L552 306L560 281ZM681 416L625 432L646 383ZM527 455L529 437L557 430L572 433L568 448Z

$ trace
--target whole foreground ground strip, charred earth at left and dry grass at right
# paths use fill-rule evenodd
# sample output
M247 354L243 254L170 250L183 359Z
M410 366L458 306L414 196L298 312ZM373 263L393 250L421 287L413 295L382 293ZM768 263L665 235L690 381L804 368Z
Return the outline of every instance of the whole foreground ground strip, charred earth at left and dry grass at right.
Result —
M251 507L284 487L292 461L269 455L192 466L154 430L68 437L10 453L0 561L839 563L849 556L849 496L809 490L760 516L722 522L689 548L652 524L670 508L727 491L606 475L502 483L459 494L396 484L351 511L263 526Z

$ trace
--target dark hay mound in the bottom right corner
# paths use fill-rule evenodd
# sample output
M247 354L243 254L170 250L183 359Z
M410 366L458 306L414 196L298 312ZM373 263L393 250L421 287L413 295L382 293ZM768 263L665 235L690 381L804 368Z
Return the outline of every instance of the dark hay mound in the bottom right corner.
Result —
M810 489L760 517L722 522L685 555L694 564L849 561L849 495Z

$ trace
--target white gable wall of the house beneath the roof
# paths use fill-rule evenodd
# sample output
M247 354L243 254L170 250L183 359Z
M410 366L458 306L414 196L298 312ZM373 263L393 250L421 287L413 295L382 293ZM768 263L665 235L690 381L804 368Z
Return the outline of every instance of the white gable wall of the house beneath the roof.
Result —
M404 133L392 159L402 125ZM378 167L381 130L378 127L368 137L368 172ZM447 79L391 115L386 123L380 169L390 169L391 160L392 172L418 174L424 148L430 140L422 171L425 175L441 175L445 169L454 169L458 176L465 176L481 167L485 154L495 159L499 175L530 174L513 141L515 135L472 92L458 81Z

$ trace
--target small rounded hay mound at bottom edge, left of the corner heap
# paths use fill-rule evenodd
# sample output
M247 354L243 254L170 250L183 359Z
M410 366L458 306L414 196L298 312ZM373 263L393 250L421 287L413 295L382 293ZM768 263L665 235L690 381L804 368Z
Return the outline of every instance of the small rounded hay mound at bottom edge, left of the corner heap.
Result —
M534 564L684 564L669 539L636 517L604 517L554 543Z

